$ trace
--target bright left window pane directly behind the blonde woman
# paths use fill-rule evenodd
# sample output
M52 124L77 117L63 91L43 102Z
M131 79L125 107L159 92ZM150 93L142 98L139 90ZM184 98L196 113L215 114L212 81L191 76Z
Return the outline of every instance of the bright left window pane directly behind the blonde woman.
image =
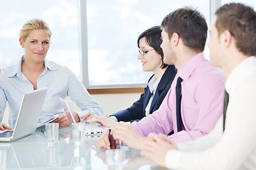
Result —
M81 77L79 1L11 0L0 5L0 68L16 64L24 54L18 34L28 20L42 18L52 30L46 59L68 66Z

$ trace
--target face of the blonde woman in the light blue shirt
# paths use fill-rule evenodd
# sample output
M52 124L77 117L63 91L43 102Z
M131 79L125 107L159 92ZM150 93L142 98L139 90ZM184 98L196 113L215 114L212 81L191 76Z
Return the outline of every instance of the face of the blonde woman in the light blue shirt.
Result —
M25 41L19 39L24 48L26 60L43 62L50 47L50 38L46 30L32 30Z

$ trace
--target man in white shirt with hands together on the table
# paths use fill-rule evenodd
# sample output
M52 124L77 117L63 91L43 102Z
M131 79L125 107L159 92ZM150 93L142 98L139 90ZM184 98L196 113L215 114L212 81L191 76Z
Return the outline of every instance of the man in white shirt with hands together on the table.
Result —
M177 145L150 134L142 155L169 169L256 169L256 12L225 4L215 12L210 34L210 62L227 77L226 118L209 135Z

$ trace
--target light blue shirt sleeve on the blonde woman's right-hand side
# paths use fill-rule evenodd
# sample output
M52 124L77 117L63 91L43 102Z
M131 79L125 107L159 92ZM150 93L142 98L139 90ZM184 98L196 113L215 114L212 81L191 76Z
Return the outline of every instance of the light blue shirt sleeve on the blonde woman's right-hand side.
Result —
M68 69L68 68L67 68ZM78 77L73 74L73 72L68 69L69 74L69 86L68 86L68 96L75 102L75 104L82 111L77 112L81 117L86 113L94 113L97 115L102 115L102 109L96 103L96 101L90 96L85 86L78 79Z

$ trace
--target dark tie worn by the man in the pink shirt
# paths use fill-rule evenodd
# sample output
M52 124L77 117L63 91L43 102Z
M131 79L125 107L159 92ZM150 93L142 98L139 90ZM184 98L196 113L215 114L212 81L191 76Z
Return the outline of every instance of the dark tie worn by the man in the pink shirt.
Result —
M182 130L182 120L181 120L181 77L178 77L176 84L176 118L177 118L177 130L178 132Z

